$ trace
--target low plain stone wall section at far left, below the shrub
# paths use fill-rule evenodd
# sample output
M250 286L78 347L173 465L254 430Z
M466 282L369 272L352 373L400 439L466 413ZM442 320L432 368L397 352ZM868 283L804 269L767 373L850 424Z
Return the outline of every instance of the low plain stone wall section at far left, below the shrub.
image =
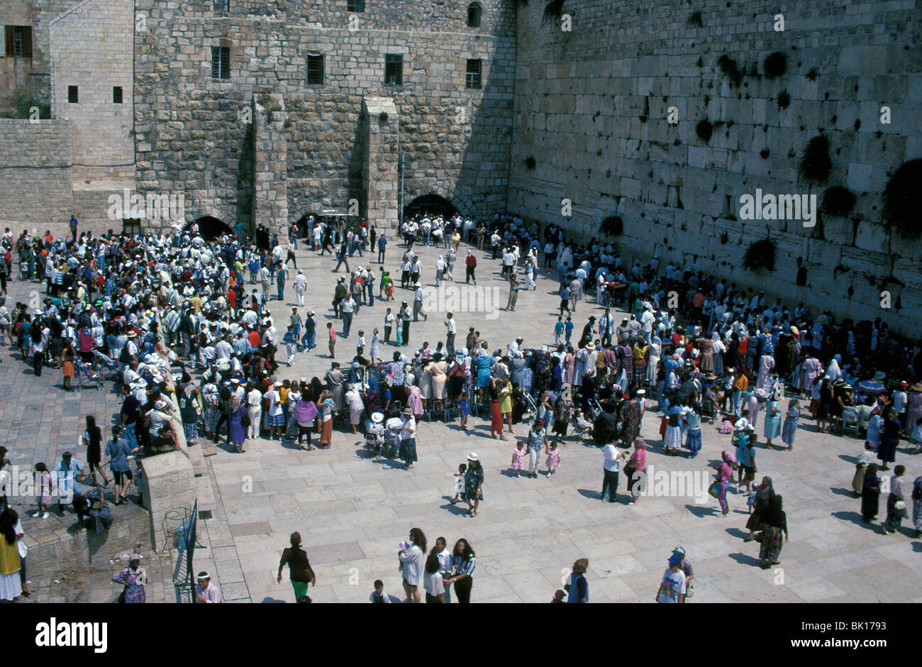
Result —
M0 119L0 224L17 234L55 222L66 230L72 161L70 121Z

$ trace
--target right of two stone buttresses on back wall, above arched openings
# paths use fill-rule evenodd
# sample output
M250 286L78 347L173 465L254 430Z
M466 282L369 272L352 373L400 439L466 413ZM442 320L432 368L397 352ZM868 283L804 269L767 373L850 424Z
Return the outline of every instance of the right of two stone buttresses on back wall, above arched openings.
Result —
M368 97L361 103L364 161L365 220L379 230L394 229L400 220L400 141L397 108L384 97Z

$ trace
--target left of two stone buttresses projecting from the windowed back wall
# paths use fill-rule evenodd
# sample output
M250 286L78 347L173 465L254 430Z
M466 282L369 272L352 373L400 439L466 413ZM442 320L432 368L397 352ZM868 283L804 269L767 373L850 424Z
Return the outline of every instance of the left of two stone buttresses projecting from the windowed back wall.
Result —
M288 243L288 113L281 95L253 98L253 231L266 225Z

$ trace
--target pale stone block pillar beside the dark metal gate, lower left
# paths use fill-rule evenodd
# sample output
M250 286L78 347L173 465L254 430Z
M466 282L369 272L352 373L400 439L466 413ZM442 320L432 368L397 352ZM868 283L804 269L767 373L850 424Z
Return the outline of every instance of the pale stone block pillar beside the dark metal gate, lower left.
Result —
M144 472L140 492L144 506L150 510L151 542L155 549L170 549L174 544L165 540L163 518L171 509L184 507L192 511L195 504L192 462L184 452L173 451L137 459L137 464Z

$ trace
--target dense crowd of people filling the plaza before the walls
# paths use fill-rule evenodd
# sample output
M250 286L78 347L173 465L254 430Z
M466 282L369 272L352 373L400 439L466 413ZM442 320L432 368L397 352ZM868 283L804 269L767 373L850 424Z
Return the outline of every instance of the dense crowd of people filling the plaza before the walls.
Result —
M489 415L491 436L502 440L515 435L514 424L527 423L511 465L516 476L526 470L530 478L538 477L542 458L547 476L557 469L557 446L572 427L602 447L601 499L617 502L623 472L627 502L635 504L642 497L637 481L650 449L641 429L647 413L656 411L665 456L685 452L695 457L703 444L703 422L721 423L722 433L731 435L736 449L727 449L715 466L711 492L724 516L729 489L751 494L750 538L760 532L762 564L771 565L780 554L786 518L771 482L758 491L751 488L762 410L767 448L780 439L793 449L798 423L806 417L801 400L809 400L807 411L819 432L854 431L866 441L855 483L866 520L877 516L872 496L880 493L881 482L876 473L889 470L901 437L916 451L922 446L922 348L894 335L881 318L835 321L829 311L810 312L802 303L791 307L778 298L770 304L764 292L726 284L695 265L662 267L656 254L645 265L637 259L629 268L610 243L579 244L555 225L541 229L508 214L492 220L410 218L399 230L398 259L393 252L386 257L388 243L398 239L378 233L364 220L350 226L309 217L303 226L290 229L285 245L266 229L257 231L254 242L229 233L206 239L195 223L169 234L126 236L77 233L72 220L67 239L50 232L22 232L14 239L6 230L0 261L4 293L15 252L19 279L44 281L45 294L33 292L29 304L0 305L0 343L5 338L15 342L20 359L30 363L35 375L59 370L65 390L75 389L75 377L78 387L106 375L121 386L118 430L105 447L117 461L111 467L116 505L131 480L127 459L138 451L179 448L179 431L190 445L203 436L217 443L226 425L228 447L243 452L248 440L264 435L296 442L299 449L306 436L307 450L315 449L313 435L319 435L320 448L332 447L337 423L349 434L392 430L396 451L409 470L418 460L416 430L424 415L457 420L464 429L471 417ZM325 322L330 368L310 380L280 378L283 363L290 366L298 355L312 353L322 328L313 306L305 304L309 285L297 268L299 237L308 240L317 257L329 252L330 261L336 261L334 272L345 264L349 273L337 277L333 314ZM434 347L423 340L415 351L402 350L410 346L411 323L433 315L423 307L421 288L430 280L414 245L444 248L431 273L440 285L455 280L462 243L471 246L465 259L468 283L477 280L475 249L482 253L488 246L490 255L481 258L500 263L500 280L509 283L509 312L520 289L537 288L538 274L551 271L560 294L552 344L537 341L529 348L518 337L491 346L471 327L460 345L455 337L463 327L448 313L444 340L435 340ZM349 269L349 257L374 249L377 270L371 257ZM375 282L384 300L378 312L386 311L381 328L371 334L355 331L354 317L361 308L374 306ZM298 305L286 322L277 323L268 305L273 298L284 300L289 284ZM311 287L317 293L313 288L319 286ZM396 304L396 289L412 297L395 314L386 304ZM620 323L612 312L619 308L626 312ZM591 315L574 337L578 309ZM345 355L341 347L337 353L337 340L351 343L353 334L354 353L351 347ZM286 354L278 360L281 346ZM396 347L390 359L383 346ZM179 381L173 382L173 376ZM108 479L100 468L101 435L89 420L85 443L93 486L78 495L96 512L98 530L104 530L111 511L107 519L97 471L104 484ZM468 516L474 517L482 499L483 469L477 455L471 457L456 473L456 497L464 499ZM84 471L82 464L77 470ZM889 487L884 485L890 489L886 532L908 516L908 493L900 479L905 469L896 470ZM920 486L922 477L912 491L916 534L922 530L922 504L916 498ZM414 548L425 552L424 538L422 544L408 547L407 553L415 554ZM419 592L407 592L419 598Z

